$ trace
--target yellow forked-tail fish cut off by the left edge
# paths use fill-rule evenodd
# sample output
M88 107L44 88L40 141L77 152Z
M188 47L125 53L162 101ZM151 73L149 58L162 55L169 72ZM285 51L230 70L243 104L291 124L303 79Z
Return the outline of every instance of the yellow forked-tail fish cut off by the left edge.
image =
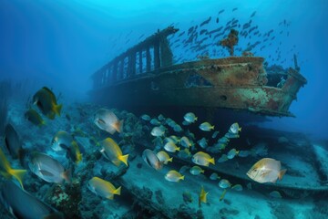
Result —
M26 170L14 170L8 160L5 158L5 153L0 149L0 173L7 179L14 177L23 188L22 179Z

